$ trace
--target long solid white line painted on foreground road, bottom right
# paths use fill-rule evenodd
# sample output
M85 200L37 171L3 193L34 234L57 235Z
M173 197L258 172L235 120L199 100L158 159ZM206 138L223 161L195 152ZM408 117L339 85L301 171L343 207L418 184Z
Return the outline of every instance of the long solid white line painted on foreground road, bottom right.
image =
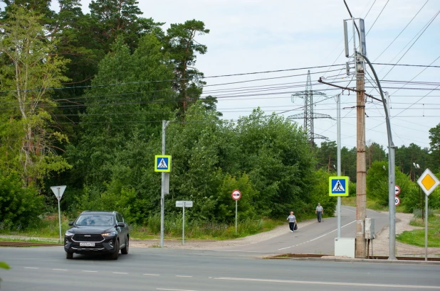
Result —
M295 284L318 284L318 285L342 285L342 286L363 286L363 287L394 287L394 288L414 288L414 289L439 289L439 286L423 285L392 285L392 284L370 284L370 283L349 283L349 282L320 282L320 281L295 281L295 280L266 280L249 278L214 278L215 280L235 280L235 281L253 281L253 282L277 282L277 283L295 283Z

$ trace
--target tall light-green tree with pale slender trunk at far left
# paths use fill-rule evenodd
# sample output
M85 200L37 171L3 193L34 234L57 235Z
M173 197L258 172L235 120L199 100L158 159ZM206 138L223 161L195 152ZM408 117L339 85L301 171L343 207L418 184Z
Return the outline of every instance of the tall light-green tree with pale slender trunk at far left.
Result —
M67 137L56 131L51 113L56 103L51 88L68 80L63 75L66 60L55 54L56 40L46 38L41 15L12 4L1 24L0 50L2 103L11 115L6 123L21 126L21 147L14 148L14 158L21 164L23 181L41 181L51 171L70 168L56 151L56 143ZM17 115L15 115L17 114Z

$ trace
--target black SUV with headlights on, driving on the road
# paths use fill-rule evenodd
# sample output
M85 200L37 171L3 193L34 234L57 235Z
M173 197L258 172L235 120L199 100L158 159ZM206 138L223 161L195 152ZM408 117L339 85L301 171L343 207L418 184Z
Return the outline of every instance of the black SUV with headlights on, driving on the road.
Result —
M73 227L64 235L66 258L73 253L108 253L117 260L119 250L128 253L128 226L118 212L83 212L69 225Z

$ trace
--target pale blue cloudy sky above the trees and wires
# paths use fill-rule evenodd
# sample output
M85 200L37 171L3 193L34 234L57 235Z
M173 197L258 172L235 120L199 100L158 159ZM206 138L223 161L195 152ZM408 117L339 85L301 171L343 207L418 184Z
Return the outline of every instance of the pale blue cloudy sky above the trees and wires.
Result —
M390 96L394 145L429 148L429 129L440 123L440 1L346 2L353 17L365 20L367 57ZM85 13L89 3L81 0ZM313 110L332 117L314 119L314 133L337 140L334 97L342 94L341 146L356 147L355 92L318 83L322 77L356 87L355 76L345 70L352 58L343 53L342 23L350 19L343 0L139 0L138 6L142 17L165 22L164 30L192 19L205 23L209 34L196 40L208 51L197 56L196 67L206 77L204 96L218 98L224 119L236 121L257 107L286 118L303 113L304 100L292 95L302 96L310 70L313 91L325 94L314 93ZM351 29L350 23L350 36ZM380 99L372 70L366 68L366 92ZM214 77L224 75L234 76ZM365 114L367 144L379 143L387 150L382 103L367 98ZM303 119L293 121L303 126Z

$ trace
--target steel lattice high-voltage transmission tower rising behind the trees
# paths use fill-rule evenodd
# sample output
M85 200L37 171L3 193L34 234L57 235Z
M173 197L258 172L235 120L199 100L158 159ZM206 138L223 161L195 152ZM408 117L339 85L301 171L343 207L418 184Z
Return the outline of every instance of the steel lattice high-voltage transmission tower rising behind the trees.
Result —
M327 137L321 136L320 134L316 134L313 132L313 119L332 119L332 116L327 114L313 113L313 95L325 96L324 93L312 90L310 71L308 71L305 91L292 94L293 103L295 102L295 97L300 97L304 99L304 113L294 114L292 116L289 116L288 119L304 119L304 130L307 134L308 141L311 146L315 146L315 138L328 141Z

